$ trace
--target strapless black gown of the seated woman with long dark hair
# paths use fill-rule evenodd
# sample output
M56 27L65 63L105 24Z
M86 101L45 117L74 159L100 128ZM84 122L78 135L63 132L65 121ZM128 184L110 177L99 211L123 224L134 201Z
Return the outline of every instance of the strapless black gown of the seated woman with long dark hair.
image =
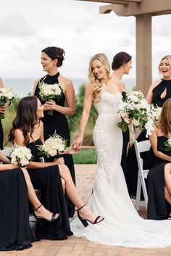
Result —
M34 162L40 162L37 156L38 145L41 140L30 142L27 147L31 150ZM64 199L62 182L58 165L40 169L28 169L30 179L35 189L41 190L41 203L51 212L59 213L59 218L53 223L43 221L43 226L39 223L36 226L36 239L63 240L71 236L70 223L67 214L67 205Z

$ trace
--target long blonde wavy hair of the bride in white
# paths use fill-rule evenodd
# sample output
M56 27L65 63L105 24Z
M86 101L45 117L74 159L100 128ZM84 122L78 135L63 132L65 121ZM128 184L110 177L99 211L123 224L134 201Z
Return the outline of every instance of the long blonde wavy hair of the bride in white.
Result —
M93 102L95 101L99 102L102 83L101 83L101 80L96 78L96 76L93 74L93 71L92 71L92 62L95 59L98 59L101 62L101 65L104 66L105 70L107 71L107 78L110 78L110 65L109 65L107 56L101 53L93 55L93 57L91 57L91 60L89 62L88 78L91 84L93 85Z

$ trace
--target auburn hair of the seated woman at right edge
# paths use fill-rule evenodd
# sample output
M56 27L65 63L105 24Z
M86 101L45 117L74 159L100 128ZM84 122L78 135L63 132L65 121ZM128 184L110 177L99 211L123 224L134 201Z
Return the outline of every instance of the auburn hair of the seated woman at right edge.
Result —
M168 136L171 133L171 99L167 99L162 107L160 115L159 125L164 133L164 136Z

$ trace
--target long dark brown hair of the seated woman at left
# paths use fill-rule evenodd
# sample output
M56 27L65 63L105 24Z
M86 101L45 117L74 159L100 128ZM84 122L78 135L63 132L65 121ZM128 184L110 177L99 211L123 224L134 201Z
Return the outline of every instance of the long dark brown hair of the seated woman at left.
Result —
M20 100L17 107L17 115L12 122L12 129L9 132L9 141L14 143L14 131L20 129L25 138L24 144L29 143L29 136L32 138L35 123L38 123L36 96L27 96ZM33 138L32 138L33 139Z

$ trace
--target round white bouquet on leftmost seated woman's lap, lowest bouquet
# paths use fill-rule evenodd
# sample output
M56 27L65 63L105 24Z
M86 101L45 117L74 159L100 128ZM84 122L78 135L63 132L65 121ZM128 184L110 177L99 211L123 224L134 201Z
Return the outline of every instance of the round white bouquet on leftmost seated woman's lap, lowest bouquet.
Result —
M19 165L20 167L26 167L32 158L30 149L26 146L13 146L10 154L11 163L13 165Z

